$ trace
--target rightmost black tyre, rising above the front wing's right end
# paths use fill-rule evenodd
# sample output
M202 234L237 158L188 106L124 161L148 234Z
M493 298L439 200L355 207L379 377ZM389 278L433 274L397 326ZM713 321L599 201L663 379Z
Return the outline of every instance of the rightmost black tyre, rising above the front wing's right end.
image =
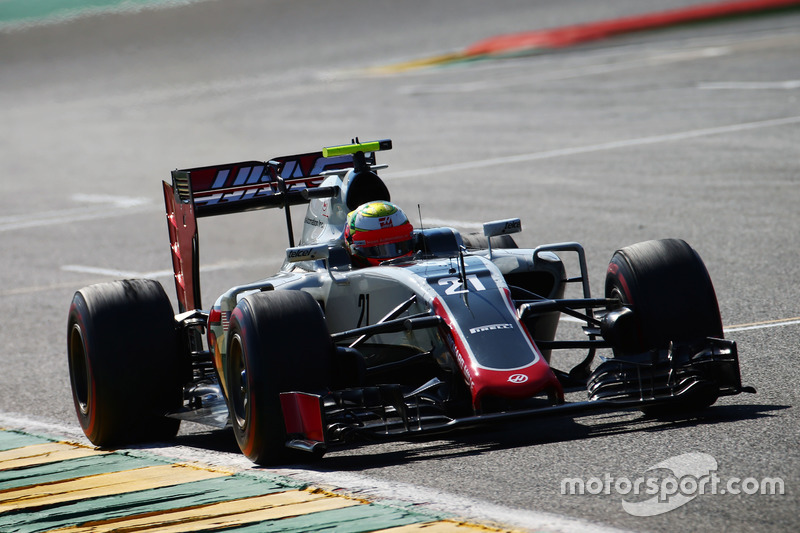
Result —
M664 348L670 341L722 338L711 278L697 252L682 240L617 250L608 265L605 294L633 310L638 351Z

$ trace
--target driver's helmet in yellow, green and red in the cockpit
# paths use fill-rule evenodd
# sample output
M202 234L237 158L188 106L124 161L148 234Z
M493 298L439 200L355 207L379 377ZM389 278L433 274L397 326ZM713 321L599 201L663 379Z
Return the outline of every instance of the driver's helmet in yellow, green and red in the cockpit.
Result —
M344 240L357 266L410 256L413 226L402 209L391 202L367 202L347 215Z

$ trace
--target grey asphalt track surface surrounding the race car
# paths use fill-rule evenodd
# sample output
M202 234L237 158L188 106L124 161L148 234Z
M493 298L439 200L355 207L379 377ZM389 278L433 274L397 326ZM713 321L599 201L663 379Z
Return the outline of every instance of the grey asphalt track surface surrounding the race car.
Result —
M625 412L364 445L279 473L524 529L548 513L564 530L797 530L800 14L367 70L696 3L227 0L0 34L0 425L77 431L64 340L76 289L146 276L172 292L169 170L389 137L395 201L463 230L519 216L526 246L579 241L595 292L615 249L687 240L758 394L691 418ZM200 238L206 304L274 272L286 243L282 213L205 220ZM187 426L154 449L249 468L225 432ZM723 479L781 478L785 493L703 494L649 517L618 493L561 494L565 478L635 479L693 452Z

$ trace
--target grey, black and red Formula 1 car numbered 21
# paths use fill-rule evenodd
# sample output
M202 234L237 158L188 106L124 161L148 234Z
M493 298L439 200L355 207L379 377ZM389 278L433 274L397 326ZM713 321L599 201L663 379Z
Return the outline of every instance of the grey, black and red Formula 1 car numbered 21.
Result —
M70 307L70 380L89 440L164 440L190 420L232 426L242 452L268 464L357 438L608 409L658 415L755 392L742 386L736 344L723 339L714 288L688 244L618 250L604 297L593 298L583 248L520 249L519 219L464 235L394 224L379 212L392 204L375 157L391 146L356 139L172 172L163 190L178 314L153 280L92 285ZM298 204L307 207L295 244ZM276 207L288 230L283 267L204 310L197 218ZM358 239L352 213L369 209L391 239ZM401 234L396 257L381 255ZM375 252L370 264L355 261L359 250ZM568 286L582 297L565 298ZM585 336L557 338L562 315ZM550 365L564 349L586 351L568 372ZM599 364L597 350L608 355ZM575 387L586 400L565 402Z

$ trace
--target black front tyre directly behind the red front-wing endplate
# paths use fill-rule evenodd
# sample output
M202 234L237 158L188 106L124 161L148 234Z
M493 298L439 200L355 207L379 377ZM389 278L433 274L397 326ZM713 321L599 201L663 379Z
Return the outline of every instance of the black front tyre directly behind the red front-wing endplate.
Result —
M231 315L225 382L236 441L253 462L302 457L286 448L281 392L328 388L334 353L319 304L302 291L259 292Z

